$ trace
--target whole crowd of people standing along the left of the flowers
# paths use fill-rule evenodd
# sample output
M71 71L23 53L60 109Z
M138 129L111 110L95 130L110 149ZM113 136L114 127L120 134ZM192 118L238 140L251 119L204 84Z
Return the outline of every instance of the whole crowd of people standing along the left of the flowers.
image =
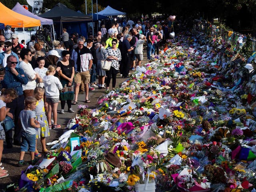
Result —
M60 114L65 113L65 103L68 112L73 113L71 106L78 104L78 94L84 94L84 102L89 103L89 90L108 91L111 79L114 89L119 72L128 78L130 70L142 64L143 45L148 60L159 54L169 30L167 23L144 20L142 24L138 20L135 24L129 19L122 24L112 23L108 30L102 25L96 36L86 40L78 33L69 38L64 28L62 42L54 40L49 52L35 36L27 44L20 44L16 34L8 34L8 39L0 35L0 121L8 116L15 125L12 136L12 129L6 130L0 124L0 166L4 140L7 148L21 146L18 166L28 164L24 161L26 151L30 152L30 164L35 164L35 157L42 156L36 147L37 139L42 153L48 153L45 138L50 136L49 129L61 127L57 123L58 103ZM111 61L108 71L101 69L104 60ZM8 171L1 167L0 178L6 176Z

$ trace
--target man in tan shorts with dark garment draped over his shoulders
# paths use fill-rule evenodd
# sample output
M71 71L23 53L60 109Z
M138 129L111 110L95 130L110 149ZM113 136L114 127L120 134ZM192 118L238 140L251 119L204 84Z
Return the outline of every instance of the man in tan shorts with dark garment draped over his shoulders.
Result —
M85 89L85 102L90 103L91 101L88 98L89 94L89 83L90 83L90 69L92 68L92 54L90 48L92 47L93 40L88 39L86 47L84 46L84 40L79 38L77 40L78 47L75 48L72 52L71 59L75 62L75 99L72 103L73 105L77 104L79 86L81 82L84 82Z

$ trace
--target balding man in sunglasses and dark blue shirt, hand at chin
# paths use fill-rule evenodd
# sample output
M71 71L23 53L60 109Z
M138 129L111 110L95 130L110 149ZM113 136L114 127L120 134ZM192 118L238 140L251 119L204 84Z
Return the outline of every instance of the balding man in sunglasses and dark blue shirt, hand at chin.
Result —
M18 125L18 119L20 111L24 109L24 95L22 90L22 85L28 83L28 77L24 71L20 68L16 68L18 63L17 58L14 55L7 57L7 66L5 68L4 80L2 80L3 88L14 88L18 93L18 98L14 99L12 102L7 103L6 107L10 108L10 113L14 116L14 145L21 145L21 129ZM12 148L12 130L5 132L7 148Z

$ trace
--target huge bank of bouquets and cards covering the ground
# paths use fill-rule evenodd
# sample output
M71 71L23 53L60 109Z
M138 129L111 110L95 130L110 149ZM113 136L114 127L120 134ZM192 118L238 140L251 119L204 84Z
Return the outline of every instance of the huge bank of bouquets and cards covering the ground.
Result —
M250 56L230 43L180 36L97 108L79 105L52 153L9 189L255 192L256 75L245 78Z

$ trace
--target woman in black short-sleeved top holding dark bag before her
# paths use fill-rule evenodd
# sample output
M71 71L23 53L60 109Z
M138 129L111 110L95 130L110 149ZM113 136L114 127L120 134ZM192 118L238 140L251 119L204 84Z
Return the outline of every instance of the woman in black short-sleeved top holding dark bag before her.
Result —
M75 75L75 68L74 61L70 60L69 58L69 51L63 50L62 60L57 63L57 67L60 67L60 71L58 73L60 75L60 82L63 86L62 91L60 91L60 114L65 113L64 107L66 101L68 104L68 112L74 113L74 110L71 108L71 101L74 98L73 79Z

